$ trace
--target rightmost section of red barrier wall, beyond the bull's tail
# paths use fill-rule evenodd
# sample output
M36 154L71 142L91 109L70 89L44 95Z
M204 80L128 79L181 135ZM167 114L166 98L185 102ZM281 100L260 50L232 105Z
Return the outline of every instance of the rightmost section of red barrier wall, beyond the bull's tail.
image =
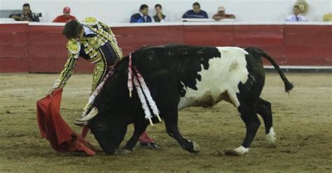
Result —
M332 25L284 26L286 64L332 65Z

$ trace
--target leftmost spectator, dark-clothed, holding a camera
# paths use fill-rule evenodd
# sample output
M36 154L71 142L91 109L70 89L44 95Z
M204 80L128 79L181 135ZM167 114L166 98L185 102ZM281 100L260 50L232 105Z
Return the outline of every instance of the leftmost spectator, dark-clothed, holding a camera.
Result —
M32 13L30 10L30 4L23 4L22 13L20 14L11 14L10 18L13 18L15 21L29 21L29 22L39 22L39 17L41 17L41 13Z

